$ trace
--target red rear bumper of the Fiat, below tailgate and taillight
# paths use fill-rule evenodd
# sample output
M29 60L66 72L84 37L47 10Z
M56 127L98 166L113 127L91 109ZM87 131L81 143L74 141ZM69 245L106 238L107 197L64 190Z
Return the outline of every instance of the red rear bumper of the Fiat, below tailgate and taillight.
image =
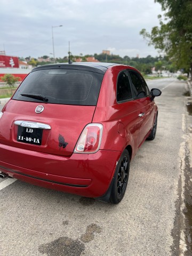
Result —
M0 144L0 171L37 186L87 197L101 197L113 178L121 152L99 150L70 157Z

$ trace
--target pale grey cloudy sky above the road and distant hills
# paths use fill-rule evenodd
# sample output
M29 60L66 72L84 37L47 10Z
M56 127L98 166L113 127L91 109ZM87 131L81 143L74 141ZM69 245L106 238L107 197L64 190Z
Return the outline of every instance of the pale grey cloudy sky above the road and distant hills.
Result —
M121 57L159 55L139 32L159 25L154 0L0 0L0 51L55 58L110 50ZM62 27L58 27L62 25ZM53 28L52 28L53 27Z

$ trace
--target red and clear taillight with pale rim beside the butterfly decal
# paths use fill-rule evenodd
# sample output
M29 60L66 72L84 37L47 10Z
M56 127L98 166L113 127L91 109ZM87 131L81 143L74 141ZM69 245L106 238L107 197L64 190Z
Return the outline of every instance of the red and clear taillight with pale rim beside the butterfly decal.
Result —
M77 141L74 153L97 152L101 145L102 130L102 124L87 124Z

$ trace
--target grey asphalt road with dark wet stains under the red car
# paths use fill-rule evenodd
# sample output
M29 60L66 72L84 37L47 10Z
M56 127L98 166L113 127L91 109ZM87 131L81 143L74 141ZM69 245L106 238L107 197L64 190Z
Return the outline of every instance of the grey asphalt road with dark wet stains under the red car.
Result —
M2 256L185 252L180 209L190 139L183 96L186 83L170 78L148 85L162 90L156 98L157 134L154 141L143 143L131 162L123 201L111 205L16 180L0 190Z

